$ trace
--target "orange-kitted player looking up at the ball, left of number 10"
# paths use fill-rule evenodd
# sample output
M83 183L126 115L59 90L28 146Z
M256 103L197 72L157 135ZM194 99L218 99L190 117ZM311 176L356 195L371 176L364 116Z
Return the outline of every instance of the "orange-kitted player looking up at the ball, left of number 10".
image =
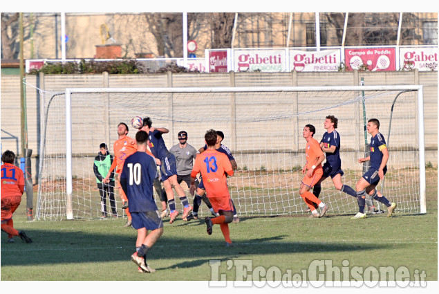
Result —
M109 173L106 174L106 177L102 182L109 183L111 172L113 172L113 169L115 170L115 179L116 179L116 187L118 187L120 198L122 198L122 209L125 210L125 213L127 213L127 223L124 227L130 227L131 226L131 214L128 210L128 199L127 195L125 195L124 191L122 190L122 187L120 187L120 173L122 172L122 168L124 167L125 159L137 151L137 144L136 140L133 140L128 134L128 126L124 122L120 122L118 125L118 140L115 141L113 144L113 152L114 152L114 159L113 164L110 167Z

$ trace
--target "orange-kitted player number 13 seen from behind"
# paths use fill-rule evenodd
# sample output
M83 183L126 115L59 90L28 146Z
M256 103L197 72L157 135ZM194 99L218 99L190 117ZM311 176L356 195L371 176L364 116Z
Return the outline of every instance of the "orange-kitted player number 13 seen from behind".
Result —
M225 239L225 246L234 246L230 239L228 223L233 221L233 204L230 198L229 189L227 188L227 175L233 176L232 165L227 156L215 149L216 131L209 129L206 132L205 142L207 149L203 154L199 154L195 159L194 168L191 172L190 193L194 196L196 190L195 177L200 172L203 176L207 198L219 217L205 218L207 234L212 235L212 227L215 224L220 225L221 232Z

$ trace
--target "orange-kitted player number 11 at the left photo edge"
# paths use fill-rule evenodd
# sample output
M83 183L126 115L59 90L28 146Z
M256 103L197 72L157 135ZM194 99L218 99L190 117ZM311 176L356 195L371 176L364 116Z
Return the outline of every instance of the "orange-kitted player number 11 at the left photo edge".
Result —
M14 243L13 236L19 236L26 243L32 240L24 231L14 228L12 214L21 203L21 195L24 192L24 174L21 169L14 165L15 154L6 150L1 155L1 230L8 234L8 242Z

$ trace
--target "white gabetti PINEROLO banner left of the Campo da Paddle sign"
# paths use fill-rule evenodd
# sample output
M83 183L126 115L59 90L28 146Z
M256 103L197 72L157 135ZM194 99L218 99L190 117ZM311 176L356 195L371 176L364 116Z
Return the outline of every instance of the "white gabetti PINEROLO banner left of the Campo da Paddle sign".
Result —
M296 71L338 71L340 49L315 52L290 50L290 70Z

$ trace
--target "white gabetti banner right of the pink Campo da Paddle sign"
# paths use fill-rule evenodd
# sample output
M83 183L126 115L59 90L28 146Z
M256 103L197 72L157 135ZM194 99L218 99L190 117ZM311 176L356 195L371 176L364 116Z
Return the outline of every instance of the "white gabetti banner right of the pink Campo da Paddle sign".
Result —
M400 48L400 68L437 71L437 48Z

